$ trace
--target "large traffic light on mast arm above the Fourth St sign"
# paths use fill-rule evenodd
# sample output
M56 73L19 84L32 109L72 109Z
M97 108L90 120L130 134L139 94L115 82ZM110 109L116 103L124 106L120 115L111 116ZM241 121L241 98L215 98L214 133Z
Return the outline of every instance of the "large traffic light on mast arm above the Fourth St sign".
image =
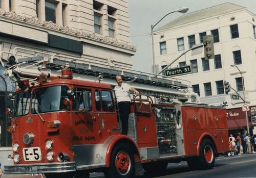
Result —
M204 59L214 59L214 36L206 35L203 37L204 43Z

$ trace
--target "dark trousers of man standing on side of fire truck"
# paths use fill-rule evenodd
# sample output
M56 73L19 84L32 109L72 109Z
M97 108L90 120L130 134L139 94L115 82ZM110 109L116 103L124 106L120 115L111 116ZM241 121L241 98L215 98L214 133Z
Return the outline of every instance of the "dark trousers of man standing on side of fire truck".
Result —
M131 102L123 101L118 103L119 116L122 120L122 134L127 135L128 133L128 119L131 113Z

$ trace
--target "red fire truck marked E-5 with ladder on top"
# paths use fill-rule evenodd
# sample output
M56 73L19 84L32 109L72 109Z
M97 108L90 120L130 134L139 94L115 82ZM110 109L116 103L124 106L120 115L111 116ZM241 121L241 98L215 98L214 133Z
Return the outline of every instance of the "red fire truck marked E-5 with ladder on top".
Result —
M1 60L19 87L10 96L13 110L7 109L14 164L5 166L5 174L89 177L101 171L106 177L134 177L143 169L163 171L168 163L181 161L209 169L229 150L226 110L201 104L188 85L67 56L44 56L14 54L9 62ZM120 134L118 108L108 107L116 74L141 93L132 99L127 135Z

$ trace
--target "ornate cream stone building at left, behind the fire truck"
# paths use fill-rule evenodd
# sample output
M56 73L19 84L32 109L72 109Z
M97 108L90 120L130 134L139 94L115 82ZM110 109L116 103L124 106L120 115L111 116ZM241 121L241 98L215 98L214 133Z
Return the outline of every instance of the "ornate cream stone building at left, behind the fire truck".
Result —
M7 60L15 47L60 54L124 68L132 68L136 46L130 43L127 0L11 0L0 1L0 57ZM17 52L18 53L18 52ZM29 53L29 52L28 52ZM30 54L33 55L33 54ZM5 109L16 86L0 65L0 160L11 154L11 120ZM5 162L7 161L7 162Z

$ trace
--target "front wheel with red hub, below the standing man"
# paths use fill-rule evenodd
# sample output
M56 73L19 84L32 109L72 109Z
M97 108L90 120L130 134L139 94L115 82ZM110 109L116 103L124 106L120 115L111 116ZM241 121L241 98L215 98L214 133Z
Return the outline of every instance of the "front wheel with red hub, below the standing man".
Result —
M104 171L106 177L135 177L135 162L132 148L126 143L116 145L110 156L110 167Z

